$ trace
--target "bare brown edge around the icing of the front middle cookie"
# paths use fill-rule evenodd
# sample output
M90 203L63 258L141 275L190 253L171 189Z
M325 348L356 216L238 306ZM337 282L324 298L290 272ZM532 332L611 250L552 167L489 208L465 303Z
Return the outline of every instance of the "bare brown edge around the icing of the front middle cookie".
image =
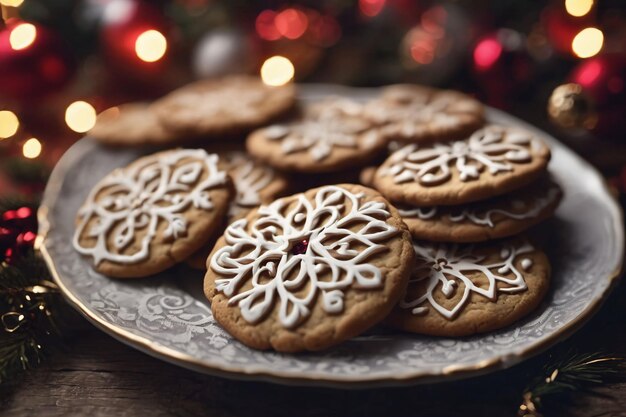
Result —
M396 303L404 295L408 279L414 268L415 251L413 250L413 243L409 231L397 210L376 190L356 184L338 184L337 186L342 188L348 187L347 189L351 192L355 192L354 190L357 189L374 193L374 199L383 201L387 205L391 213L391 218L389 220L392 221L392 225L398 228L402 234L400 237L402 240L402 248L399 257L400 259L404 259L404 262L398 267L393 268L391 274L385 275L386 285L390 282L389 275L391 275L392 280L392 283L388 284L390 286L389 296L383 300L380 308L376 311L373 311L373 309L368 305L361 305L358 310L360 310L362 314L354 314L353 312L350 317L345 317L337 324L334 324L335 322L333 321L331 326L328 326L330 320L325 320L326 326L322 326L321 329L316 329L314 331L303 330L300 327L289 330L276 323L276 331L272 334L272 336L266 337L259 335L258 332L255 331L255 324L250 324L243 320L241 315L238 313L239 307L228 306L228 298L226 298L224 294L215 291L214 282L217 275L209 267L207 268L207 273L204 279L204 294L211 303L213 316L218 323L220 323L220 325L227 330L228 333L246 346L259 350L274 349L279 352L318 351L326 349L357 336L372 326L380 323L385 317L387 317L389 312L393 310ZM313 190L316 189L309 191ZM247 218L254 218L257 211L258 209L254 209L248 214ZM223 247L224 244L225 239L222 236L209 255L207 265L209 265L210 259L213 258L215 252ZM318 305L316 304L316 306ZM274 307L274 309L275 308L276 307ZM275 310L272 310L269 314L275 314ZM302 325L306 325L306 323L307 322L305 321ZM305 335L305 333L307 335Z

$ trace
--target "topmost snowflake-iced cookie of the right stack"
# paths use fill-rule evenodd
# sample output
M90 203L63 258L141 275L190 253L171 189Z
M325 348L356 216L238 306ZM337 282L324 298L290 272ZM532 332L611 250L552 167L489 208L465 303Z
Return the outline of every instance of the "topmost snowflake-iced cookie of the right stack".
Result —
M374 185L394 202L461 205L530 184L549 160L550 149L532 133L489 125L462 140L399 149L378 169Z

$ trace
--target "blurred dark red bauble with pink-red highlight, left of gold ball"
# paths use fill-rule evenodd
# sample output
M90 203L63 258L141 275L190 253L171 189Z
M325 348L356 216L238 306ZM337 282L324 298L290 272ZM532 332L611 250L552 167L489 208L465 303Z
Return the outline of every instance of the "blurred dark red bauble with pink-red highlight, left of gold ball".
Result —
M534 66L525 49L525 38L511 29L481 37L473 50L473 70L489 104L507 108L510 99L526 90Z

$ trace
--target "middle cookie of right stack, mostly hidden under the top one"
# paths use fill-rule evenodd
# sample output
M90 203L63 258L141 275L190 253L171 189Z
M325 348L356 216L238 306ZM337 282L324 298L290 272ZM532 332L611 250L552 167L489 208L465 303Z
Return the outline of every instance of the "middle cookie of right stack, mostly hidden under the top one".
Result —
M513 236L552 216L562 197L553 181L541 179L498 197L464 206L399 206L415 239L481 242Z

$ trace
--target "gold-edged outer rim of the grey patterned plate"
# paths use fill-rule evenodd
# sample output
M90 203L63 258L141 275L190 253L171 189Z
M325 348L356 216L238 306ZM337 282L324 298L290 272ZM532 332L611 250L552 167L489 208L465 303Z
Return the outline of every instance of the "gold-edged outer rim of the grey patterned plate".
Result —
M371 89L348 89L345 87L339 86L328 86L328 85L318 85L318 86L306 86L302 90L304 90L304 99L311 99L316 95L320 95L318 91L327 90L332 88L335 93L337 91L345 91L346 95L371 95L374 90ZM489 118L499 119L499 120L507 120L511 124L516 124L523 126L527 129L537 132L541 134L543 137L549 138L551 142L556 142L555 139L551 138L545 132L528 125L527 123L508 115L504 112L488 109ZM136 334L131 333L130 331L116 326L104 318L101 318L97 315L95 311L93 311L89 306L83 304L78 297L73 294L66 285L64 285L62 276L56 270L55 262L50 252L46 247L46 236L52 227L50 223L50 219L48 219L49 207L52 207L55 203L55 196L58 194L58 190L60 189L63 180L64 173L69 168L68 162L71 162L70 159L74 160L74 158L80 157L84 152L88 152L93 147L93 142L90 141L79 141L74 146L72 146L71 151L68 151L66 155L62 158L62 160L57 164L55 169L53 170L52 175L50 176L48 185L46 186L46 190L44 193L44 198L42 201L42 205L38 211L38 218L40 222L40 239L41 242L40 249L43 254L46 263L48 264L53 278L62 293L65 297L70 301L70 304L74 306L80 313L82 313L90 322L92 322L96 327L105 331L106 333L112 335L116 339L124 342L134 348L137 348L151 356L154 356L158 359L165 360L167 362L171 362L177 364L179 366L192 369L195 371L208 373L217 376L224 376L229 378L236 379L247 379L247 380L263 380L274 383L283 383L283 384L298 384L298 385L324 385L324 386L333 386L333 387L341 387L341 388L358 388L358 387L366 387L366 386L390 386L390 385L404 385L411 383L423 383L430 381L441 381L441 380L449 380L456 379L462 377L476 376L480 374L484 374L487 372L495 371L497 369L508 368L513 366L545 349L558 343L559 341L565 339L574 333L578 328L580 328L602 305L602 302L606 299L610 291L613 289L617 282L617 278L620 275L622 264L623 264L623 253L624 253L624 230L623 230L623 213L615 201L614 198L611 197L608 188L600 174L597 172L595 168L589 165L586 161L584 161L581 157L574 154L573 151L568 149L565 145L561 145L564 151L568 152L573 158L577 160L578 163L583 165L588 172L595 176L595 179L598 183L602 184L604 189L604 193L608 196L605 202L610 202L610 212L611 216L617 220L614 224L615 227L615 236L617 236L617 241L615 245L619 249L619 253L622 254L622 257L617 260L617 268L613 271L612 274L609 274L607 277L599 278L608 280L604 291L601 294L597 295L596 298L592 299L591 302L585 307L585 309L574 319L572 319L569 323L563 326L560 331L555 332L548 337L545 337L541 340L538 340L536 343L527 346L521 351L513 352L510 354L500 354L494 356L491 359L483 360L476 362L471 365L454 365L451 364L449 366L443 367L440 372L428 372L423 370L413 370L407 371L403 374L396 375L394 377L384 377L380 376L372 376L368 378L367 376L351 376L351 375L333 375L332 378L328 378L325 375L317 374L315 372L308 372L306 375L302 375L301 377L295 378L291 374L284 374L280 371L261 371L259 369L251 369L251 367L245 366L237 366L237 365L222 365L222 364L209 364L205 361L198 360L192 355L184 354L179 351L176 351L172 348L166 347L162 344L152 341L150 338L138 336ZM70 156L72 158L70 158ZM65 165L68 165L67 167ZM253 367L252 367L253 368Z

